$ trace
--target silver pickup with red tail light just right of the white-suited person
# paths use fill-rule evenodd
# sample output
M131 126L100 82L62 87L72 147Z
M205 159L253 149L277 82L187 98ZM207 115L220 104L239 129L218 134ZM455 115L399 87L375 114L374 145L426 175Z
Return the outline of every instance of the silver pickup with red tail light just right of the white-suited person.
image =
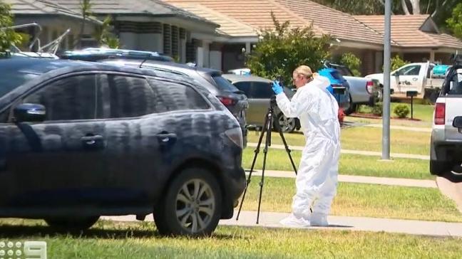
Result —
M358 105L374 106L376 98L379 97L379 81L370 78L354 76L351 70L344 65L325 62L326 68L334 68L347 80L349 85L349 108L344 110L346 115L356 110ZM374 82L375 81L375 82Z

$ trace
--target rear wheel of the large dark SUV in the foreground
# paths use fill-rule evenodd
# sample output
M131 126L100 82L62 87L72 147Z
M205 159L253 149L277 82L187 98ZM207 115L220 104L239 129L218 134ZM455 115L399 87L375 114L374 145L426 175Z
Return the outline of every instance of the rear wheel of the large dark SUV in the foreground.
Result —
M154 211L162 235L210 236L222 212L222 191L215 176L199 167L183 169Z

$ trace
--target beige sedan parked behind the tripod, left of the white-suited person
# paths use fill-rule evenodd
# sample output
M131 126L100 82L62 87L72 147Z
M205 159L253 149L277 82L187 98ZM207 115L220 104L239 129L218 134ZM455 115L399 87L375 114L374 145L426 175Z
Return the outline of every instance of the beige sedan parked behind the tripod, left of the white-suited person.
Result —
M265 115L270 107L270 98L274 95L271 88L271 80L260 78L255 75L235 75L224 74L223 78L229 80L235 87L241 90L249 100L249 109L247 110L246 120L247 127L263 127L265 124ZM290 88L284 86L284 93L287 97L292 98L295 94ZM300 128L300 122L297 118L287 118L275 108L274 123L279 123L282 132L293 132Z

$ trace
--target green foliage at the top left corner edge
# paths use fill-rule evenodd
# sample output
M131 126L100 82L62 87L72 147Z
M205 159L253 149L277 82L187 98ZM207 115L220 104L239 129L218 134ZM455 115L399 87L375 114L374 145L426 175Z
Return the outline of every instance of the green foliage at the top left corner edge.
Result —
M0 53L9 51L13 44L21 43L21 35L13 29L8 28L13 25L11 7L9 4L0 1Z

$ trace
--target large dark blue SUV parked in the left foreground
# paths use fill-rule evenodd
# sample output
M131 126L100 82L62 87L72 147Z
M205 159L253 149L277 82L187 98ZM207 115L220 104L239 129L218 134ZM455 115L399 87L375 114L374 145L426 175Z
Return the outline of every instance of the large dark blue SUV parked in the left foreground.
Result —
M71 60L0 60L0 217L85 229L154 213L205 235L245 188L236 118L189 78Z

